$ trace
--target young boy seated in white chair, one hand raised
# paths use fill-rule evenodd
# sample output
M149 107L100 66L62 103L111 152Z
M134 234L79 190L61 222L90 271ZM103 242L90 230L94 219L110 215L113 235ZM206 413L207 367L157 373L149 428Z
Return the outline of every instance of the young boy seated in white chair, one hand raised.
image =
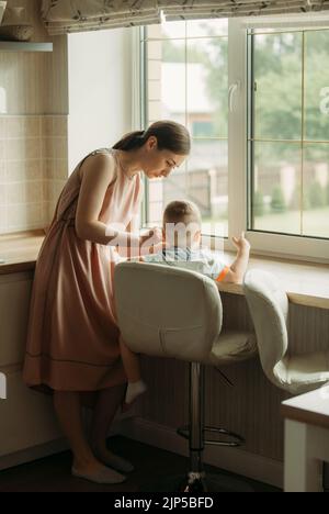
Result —
M158 254L145 255L144 262L156 262L166 266L190 269L205 275L216 282L241 283L249 261L250 244L245 233L234 237L237 256L227 266L220 256L201 247L202 217L198 208L188 201L171 202L163 214L163 241L166 248ZM140 378L139 360L121 338L121 351L124 368L128 378L125 403L128 406L146 391Z

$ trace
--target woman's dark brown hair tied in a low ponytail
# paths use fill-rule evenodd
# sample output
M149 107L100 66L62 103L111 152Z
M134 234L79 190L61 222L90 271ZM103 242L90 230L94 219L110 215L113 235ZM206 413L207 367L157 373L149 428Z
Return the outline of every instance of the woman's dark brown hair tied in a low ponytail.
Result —
M137 149L152 136L158 141L159 150L167 149L177 155L190 155L191 136L188 128L172 121L156 122L146 132L131 132L116 143L113 149L125 152Z

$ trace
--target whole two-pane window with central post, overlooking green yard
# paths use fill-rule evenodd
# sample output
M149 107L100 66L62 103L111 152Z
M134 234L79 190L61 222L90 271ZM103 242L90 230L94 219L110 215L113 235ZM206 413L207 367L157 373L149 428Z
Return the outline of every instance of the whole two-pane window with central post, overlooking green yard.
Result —
M329 259L329 29L171 22L140 44L145 125L171 119L192 135L184 168L147 183L147 223L189 199L227 248L248 231L259 253Z

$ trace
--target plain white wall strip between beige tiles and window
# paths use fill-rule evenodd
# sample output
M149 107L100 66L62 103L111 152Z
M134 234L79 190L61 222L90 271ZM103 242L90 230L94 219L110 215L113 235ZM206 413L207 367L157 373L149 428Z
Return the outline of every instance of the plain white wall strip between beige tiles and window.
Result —
M68 36L69 170L132 130L132 31Z

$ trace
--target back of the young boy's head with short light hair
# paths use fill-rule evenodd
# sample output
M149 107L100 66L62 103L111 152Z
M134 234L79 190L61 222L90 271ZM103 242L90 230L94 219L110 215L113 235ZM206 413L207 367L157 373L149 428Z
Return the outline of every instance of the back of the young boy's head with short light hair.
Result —
M170 245L191 247L201 227L201 212L195 203L175 200L167 205L163 213L163 228Z

